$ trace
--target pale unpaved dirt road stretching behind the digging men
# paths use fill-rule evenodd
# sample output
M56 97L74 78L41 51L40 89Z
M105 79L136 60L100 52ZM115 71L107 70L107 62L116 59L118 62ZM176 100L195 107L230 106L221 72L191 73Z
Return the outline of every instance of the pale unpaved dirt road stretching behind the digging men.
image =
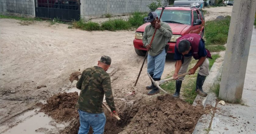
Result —
M132 92L144 58L134 52L133 39L134 31L88 32L68 29L66 24L36 21L24 26L20 20L0 19L0 124L37 102L74 87L69 75L97 65L101 55L112 58L108 73L116 105L121 106L127 93ZM174 71L174 63L171 58L166 59L162 78ZM145 64L135 98L151 99L144 89L151 83L146 68Z

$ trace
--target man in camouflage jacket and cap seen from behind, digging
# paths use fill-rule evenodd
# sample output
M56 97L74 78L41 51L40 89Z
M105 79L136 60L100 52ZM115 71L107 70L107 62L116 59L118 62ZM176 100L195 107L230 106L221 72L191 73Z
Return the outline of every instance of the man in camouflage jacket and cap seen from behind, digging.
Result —
M104 94L112 113L117 115L110 76L106 72L110 64L111 58L105 55L102 56L98 61L98 66L85 69L76 83L76 88L81 90L76 103L80 117L78 134L87 134L90 126L94 134L103 134L106 123L106 117L102 109Z

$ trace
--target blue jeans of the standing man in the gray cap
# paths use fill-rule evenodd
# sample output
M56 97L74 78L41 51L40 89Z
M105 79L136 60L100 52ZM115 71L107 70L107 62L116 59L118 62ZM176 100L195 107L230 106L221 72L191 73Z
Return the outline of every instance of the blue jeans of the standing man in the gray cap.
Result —
M148 73L154 74L153 78L161 78L165 68L165 49L156 56L148 55Z

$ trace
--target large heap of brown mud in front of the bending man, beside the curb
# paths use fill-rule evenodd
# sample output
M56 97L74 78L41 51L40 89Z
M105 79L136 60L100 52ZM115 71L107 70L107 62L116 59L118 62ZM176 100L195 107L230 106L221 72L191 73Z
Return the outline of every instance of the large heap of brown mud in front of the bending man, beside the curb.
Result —
M170 95L158 96L154 101L137 102L133 109L138 111L128 125L128 134L191 134L204 114L203 107L194 107Z

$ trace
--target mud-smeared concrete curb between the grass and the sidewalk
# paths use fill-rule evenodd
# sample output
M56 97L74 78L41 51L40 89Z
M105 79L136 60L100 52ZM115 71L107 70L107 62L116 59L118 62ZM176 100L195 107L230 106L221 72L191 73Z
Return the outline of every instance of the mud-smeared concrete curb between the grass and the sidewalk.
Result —
M221 57L216 59L216 61L212 65L209 76L207 76L204 81L203 89L206 93L208 93L207 97L201 97L197 95L197 97L193 102L193 106L201 104L203 105L204 108L206 107L206 105L215 107L217 97L215 93L210 92L210 87L215 82L217 82L218 78L221 76L225 51L220 52L219 55ZM212 111L212 109L209 114L202 115L195 126L193 134L207 134L207 132L204 129L209 128L209 126L211 125L213 116L214 116L214 112Z

